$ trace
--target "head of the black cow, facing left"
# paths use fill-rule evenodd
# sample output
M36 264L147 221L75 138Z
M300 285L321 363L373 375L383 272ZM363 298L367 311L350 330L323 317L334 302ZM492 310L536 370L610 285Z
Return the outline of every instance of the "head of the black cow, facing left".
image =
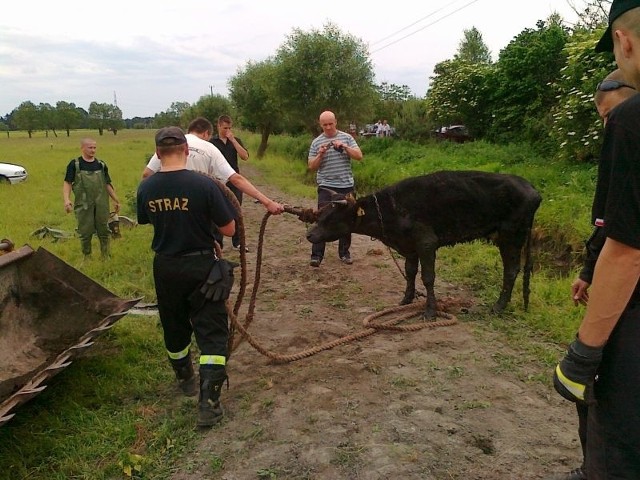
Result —
M316 215L316 224L307 232L311 243L333 242L351 233L356 199L353 195L331 192L331 201Z

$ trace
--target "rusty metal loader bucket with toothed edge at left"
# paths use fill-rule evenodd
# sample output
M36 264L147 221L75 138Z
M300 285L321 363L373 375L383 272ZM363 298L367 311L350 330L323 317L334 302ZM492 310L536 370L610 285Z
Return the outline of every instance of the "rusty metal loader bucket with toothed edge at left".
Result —
M44 248L1 253L0 426L140 300L117 297Z

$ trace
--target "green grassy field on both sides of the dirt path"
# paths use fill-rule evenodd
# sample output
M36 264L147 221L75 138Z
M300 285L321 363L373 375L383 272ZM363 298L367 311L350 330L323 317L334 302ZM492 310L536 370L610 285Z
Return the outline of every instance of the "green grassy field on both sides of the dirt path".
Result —
M42 132L33 138L24 132L1 136L0 161L23 165L29 179L0 186L0 238L9 238L17 246L44 246L117 295L154 301L150 227L127 231L126 239L113 242L113 258L108 262L83 261L77 239L31 236L43 226L74 231L75 219L63 208L62 182L69 160L79 155L84 136L98 142L97 156L107 163L123 203L121 214L135 219L135 191L154 151L153 134L151 130L122 130L117 136L80 131L72 131L70 137L50 134L47 138ZM242 138L255 152L258 136L244 133ZM313 176L306 170L309 140L273 137L265 158L252 163L285 195L312 198ZM561 253L575 257L590 232L593 166L567 165L536 157L524 147L497 148L482 142L416 146L371 139L364 140L362 148L365 161L355 167L360 194L439 169L509 172L530 179L543 196L536 236L546 249L539 252L532 279L536 294L529 313L510 312L510 322L490 316L486 321L534 352L536 343L528 339L565 342L572 337L581 317L581 310L568 301L576 266L567 267L566 258L562 270L554 263ZM497 272L497 262L493 247L473 243L446 248L439 252L439 275L488 299L495 297L495 291L487 285L497 285L499 279L487 278L487 272ZM514 292L514 298L519 295ZM158 319L128 315L98 343L88 358L79 360L82 368L68 369L56 377L55 392L45 390L0 428L3 478L166 478L174 462L195 442L191 411L177 409L169 416L157 413L166 410L171 397L166 390L172 378ZM539 358L549 365L556 361L547 351L540 351ZM58 414L49 414L48 408ZM141 444L144 455L139 453Z

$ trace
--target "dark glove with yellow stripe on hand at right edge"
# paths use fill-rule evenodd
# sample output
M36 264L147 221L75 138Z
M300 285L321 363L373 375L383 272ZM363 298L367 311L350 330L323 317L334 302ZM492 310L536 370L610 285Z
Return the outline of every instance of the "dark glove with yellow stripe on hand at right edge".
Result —
M594 405L593 387L602 360L602 347L590 347L576 339L553 372L553 387L567 400Z

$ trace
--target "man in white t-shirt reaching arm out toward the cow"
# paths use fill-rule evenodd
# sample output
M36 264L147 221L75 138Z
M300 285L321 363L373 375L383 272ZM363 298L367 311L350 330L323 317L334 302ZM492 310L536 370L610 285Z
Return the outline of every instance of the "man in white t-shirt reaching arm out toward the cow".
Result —
M209 138L213 134L213 125L209 120L204 117L196 118L189 124L187 132L185 137L189 146L188 170L212 175L222 183L231 182L238 190L258 200L273 215L279 215L284 211L282 204L271 200L249 180L237 173L220 150L209 142ZM142 172L142 178L160 171L160 167L160 159L154 154Z

